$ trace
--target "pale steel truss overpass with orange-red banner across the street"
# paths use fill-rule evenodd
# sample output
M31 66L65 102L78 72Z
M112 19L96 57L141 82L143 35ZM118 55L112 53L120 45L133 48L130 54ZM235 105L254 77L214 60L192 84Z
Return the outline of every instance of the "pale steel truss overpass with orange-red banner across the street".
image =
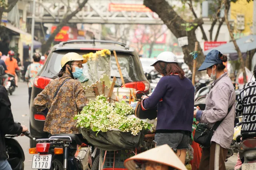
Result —
M76 10L77 0L38 0L35 23L58 23ZM80 0L82 2L82 0ZM121 4L122 3L122 4ZM32 3L30 11L32 11ZM31 15L28 17L30 18ZM162 24L158 15L143 5L143 0L88 0L69 23Z

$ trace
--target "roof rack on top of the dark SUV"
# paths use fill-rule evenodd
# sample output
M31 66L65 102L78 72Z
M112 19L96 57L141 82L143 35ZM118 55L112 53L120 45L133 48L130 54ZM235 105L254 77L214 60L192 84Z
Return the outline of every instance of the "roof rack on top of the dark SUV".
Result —
M107 41L107 40L97 40L97 39L75 39L75 40L70 40L70 41L64 41L59 43L59 47L63 47L63 45L68 44L68 43L109 43L109 44L118 44L124 47L125 49L129 49L129 45L126 45L124 43L119 43L116 41Z

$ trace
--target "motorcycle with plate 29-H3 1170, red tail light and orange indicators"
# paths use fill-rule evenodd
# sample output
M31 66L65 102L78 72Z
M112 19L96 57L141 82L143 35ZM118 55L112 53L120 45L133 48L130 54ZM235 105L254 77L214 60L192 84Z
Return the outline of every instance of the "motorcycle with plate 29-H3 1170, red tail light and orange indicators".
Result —
M91 147L82 143L77 135L56 134L36 141L36 148L29 149L30 154L35 154L32 169L90 170L92 167L96 150L92 153Z

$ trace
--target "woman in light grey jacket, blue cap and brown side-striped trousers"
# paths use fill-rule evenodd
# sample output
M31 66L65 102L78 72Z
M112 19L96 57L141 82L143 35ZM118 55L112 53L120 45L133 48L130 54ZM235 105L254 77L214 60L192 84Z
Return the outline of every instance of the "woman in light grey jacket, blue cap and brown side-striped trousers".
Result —
M210 92L206 95L206 109L194 111L194 117L200 123L208 123L213 127L217 121L225 119L218 126L209 148L202 149L199 170L226 170L225 160L234 134L235 99L236 94L232 81L224 72L223 62L227 57L218 50L212 50L206 55L204 63L198 71L206 70L214 80ZM228 108L232 107L228 113Z

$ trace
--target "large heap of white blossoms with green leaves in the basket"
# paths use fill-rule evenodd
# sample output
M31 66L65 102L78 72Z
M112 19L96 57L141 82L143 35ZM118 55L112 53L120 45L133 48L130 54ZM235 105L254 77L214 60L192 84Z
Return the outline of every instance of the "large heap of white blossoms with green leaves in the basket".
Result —
M92 129L92 131L106 132L119 130L131 132L136 136L142 129L150 129L151 124L138 118L128 118L126 115L134 113L133 107L126 102L109 103L103 96L90 100L80 114L76 115L77 127Z

